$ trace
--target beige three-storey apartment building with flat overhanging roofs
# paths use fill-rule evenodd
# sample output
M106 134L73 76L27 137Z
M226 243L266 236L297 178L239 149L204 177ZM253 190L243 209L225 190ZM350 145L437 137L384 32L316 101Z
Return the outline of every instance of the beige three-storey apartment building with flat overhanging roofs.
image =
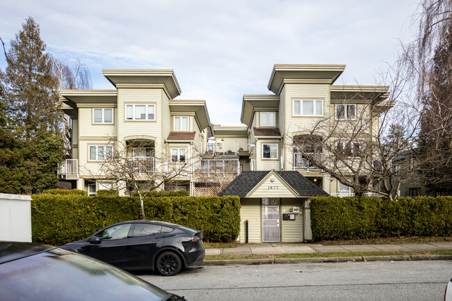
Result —
M143 174L143 181L154 179L152 174L161 174L155 177L161 181L165 173L178 172L161 188L191 195L217 195L241 172L255 170L297 171L330 195L353 195L312 165L312 160L328 158L325 149L313 146L308 160L307 150L293 143L312 135L323 120L367 118L374 121L369 133L378 131L380 113L389 108L388 88L333 85L344 69L275 65L268 82L271 94L243 95L237 108L243 127L214 126L204 100L175 99L181 89L172 70L103 70L112 90L61 91L63 110L72 119L72 156L61 166L60 177L90 195L119 188L120 181L104 170L114 154L122 153L124 168ZM369 99L357 95L371 97L373 106L364 106ZM319 128L315 134L327 133ZM127 185L120 193L128 193Z

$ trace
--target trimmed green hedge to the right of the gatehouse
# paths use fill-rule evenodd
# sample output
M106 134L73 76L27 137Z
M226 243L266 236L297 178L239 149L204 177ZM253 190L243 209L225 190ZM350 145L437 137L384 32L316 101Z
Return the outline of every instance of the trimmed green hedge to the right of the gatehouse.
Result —
M392 236L451 236L452 197L312 197L315 241Z

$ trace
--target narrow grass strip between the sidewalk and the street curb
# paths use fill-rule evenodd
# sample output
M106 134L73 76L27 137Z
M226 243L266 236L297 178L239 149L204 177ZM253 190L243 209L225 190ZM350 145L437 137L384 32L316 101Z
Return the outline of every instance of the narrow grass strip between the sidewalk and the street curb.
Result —
M285 259L285 258L364 257L364 256L403 256L403 255L407 255L407 256L410 256L410 255L452 255L452 250L206 255L205 260L209 261L209 260L234 260L234 259Z

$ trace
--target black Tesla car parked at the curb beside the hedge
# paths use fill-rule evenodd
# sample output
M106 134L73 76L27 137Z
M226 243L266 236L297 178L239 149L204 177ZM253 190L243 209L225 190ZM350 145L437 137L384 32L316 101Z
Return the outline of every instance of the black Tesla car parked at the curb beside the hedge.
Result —
M202 231L170 222L118 222L82 241L60 246L124 270L156 270L172 276L204 261Z

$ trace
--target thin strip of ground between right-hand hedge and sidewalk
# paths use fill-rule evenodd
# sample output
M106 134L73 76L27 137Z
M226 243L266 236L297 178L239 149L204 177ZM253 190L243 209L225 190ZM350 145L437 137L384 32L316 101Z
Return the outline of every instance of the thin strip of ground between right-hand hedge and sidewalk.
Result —
M316 241L316 243L322 245L396 245L400 243L444 243L450 241L452 241L452 236L400 236L350 239L344 241Z

